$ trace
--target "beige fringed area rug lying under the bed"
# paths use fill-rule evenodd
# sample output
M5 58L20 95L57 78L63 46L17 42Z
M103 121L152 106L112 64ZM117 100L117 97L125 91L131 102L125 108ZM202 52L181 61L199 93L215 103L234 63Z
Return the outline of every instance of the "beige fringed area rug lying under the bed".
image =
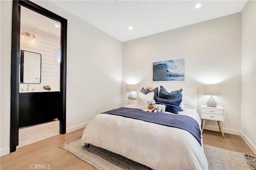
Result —
M81 146L80 144L81 136L78 136L60 145L60 148L64 148L81 160L91 164L98 170L151 169L108 150L93 145L90 145L90 147L87 148ZM204 144L204 153L208 160L209 170L256 170L256 160L249 154L234 152L206 144Z

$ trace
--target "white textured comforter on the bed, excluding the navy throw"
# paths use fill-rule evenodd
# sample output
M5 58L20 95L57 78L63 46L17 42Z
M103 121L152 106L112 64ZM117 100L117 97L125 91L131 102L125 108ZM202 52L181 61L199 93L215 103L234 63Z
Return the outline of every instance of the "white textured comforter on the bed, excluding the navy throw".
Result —
M180 115L201 124L196 109L186 108ZM203 142L200 146L190 132L180 128L99 114L84 129L81 142L82 146L90 143L155 170L208 169Z

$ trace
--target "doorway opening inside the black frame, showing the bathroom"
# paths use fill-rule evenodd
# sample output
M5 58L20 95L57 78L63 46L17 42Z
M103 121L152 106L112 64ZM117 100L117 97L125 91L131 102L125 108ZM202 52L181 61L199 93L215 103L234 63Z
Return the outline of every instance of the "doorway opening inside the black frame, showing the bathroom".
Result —
M60 109L54 107L60 108L60 54L60 23L20 6L17 148L59 134ZM46 86L48 90L42 88ZM50 102L52 99L43 94L49 92L54 93L47 97L55 101ZM38 99L40 97L42 99Z

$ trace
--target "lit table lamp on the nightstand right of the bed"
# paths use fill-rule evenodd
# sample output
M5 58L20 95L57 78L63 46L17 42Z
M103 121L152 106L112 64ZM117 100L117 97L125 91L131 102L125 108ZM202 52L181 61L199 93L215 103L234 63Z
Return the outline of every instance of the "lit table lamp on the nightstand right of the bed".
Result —
M216 107L217 102L214 100L212 95L220 95L219 85L204 85L204 95L211 95L210 99L206 102L208 107Z

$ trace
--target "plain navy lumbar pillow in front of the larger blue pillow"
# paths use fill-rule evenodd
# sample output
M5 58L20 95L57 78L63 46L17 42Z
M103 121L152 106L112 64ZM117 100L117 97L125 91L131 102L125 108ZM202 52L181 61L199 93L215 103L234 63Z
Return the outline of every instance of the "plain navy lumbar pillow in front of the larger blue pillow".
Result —
M156 101L156 104L166 105L166 112L179 114L179 107L182 99L161 99L159 97L154 97L154 100Z

